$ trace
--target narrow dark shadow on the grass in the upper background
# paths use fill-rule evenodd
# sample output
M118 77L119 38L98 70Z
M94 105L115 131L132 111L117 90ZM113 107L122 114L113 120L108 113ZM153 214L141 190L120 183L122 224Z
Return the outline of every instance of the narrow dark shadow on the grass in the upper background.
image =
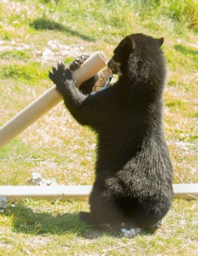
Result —
M46 18L35 19L30 26L36 30L58 30L69 33L72 36L78 36L83 40L94 42L95 39L86 35L83 35L77 31L71 30L70 28L63 26L62 24Z

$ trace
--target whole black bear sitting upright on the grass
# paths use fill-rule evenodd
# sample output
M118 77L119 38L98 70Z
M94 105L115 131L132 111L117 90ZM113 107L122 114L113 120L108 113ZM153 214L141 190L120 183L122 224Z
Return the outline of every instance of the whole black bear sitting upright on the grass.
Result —
M72 116L98 134L91 212L80 213L97 228L148 229L171 206L172 167L162 122L162 44L163 38L144 34L125 37L108 62L118 81L95 94L89 93L96 77L78 90L64 64L49 72ZM70 68L78 68L86 58L77 58Z

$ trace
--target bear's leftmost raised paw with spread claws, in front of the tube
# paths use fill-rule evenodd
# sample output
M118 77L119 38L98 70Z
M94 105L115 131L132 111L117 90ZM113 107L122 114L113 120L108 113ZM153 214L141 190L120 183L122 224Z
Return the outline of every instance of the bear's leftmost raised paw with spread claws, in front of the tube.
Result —
M59 62L57 68L55 65L52 66L52 72L49 71L49 78L55 83L58 92L70 84L70 81L73 82L71 71L66 68L63 62Z

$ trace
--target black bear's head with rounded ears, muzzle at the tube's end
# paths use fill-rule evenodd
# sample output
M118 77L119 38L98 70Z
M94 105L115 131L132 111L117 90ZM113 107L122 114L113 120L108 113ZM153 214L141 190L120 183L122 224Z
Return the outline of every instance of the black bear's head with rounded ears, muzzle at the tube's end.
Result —
M148 76L149 71L155 69L155 66L164 66L160 50L163 42L163 37L156 39L140 33L126 36L115 48L107 66L119 76Z

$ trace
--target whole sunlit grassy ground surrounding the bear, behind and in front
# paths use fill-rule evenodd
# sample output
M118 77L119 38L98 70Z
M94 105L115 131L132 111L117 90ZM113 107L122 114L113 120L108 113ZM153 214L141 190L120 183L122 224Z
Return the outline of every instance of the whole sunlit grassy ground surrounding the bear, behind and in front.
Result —
M0 125L52 85L48 70L57 60L69 64L96 50L110 58L132 32L163 36L164 128L174 183L198 183L197 10L195 0L0 3ZM92 185L96 140L60 103L0 149L0 185L27 185L34 171L60 185ZM8 204L0 215L0 256L198 254L197 199L174 199L160 229L132 240L86 226L81 210L89 210L88 201Z

